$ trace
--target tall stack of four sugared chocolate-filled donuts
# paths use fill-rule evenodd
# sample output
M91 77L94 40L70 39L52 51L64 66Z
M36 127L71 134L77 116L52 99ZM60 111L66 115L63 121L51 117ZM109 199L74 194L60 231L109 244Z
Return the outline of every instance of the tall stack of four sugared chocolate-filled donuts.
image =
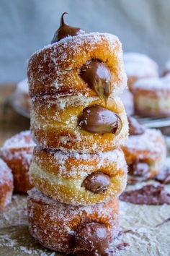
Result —
M63 14L64 15L64 14ZM61 25L28 64L30 234L73 255L112 255L118 234L117 197L127 182L120 147L128 137L121 43L115 35Z

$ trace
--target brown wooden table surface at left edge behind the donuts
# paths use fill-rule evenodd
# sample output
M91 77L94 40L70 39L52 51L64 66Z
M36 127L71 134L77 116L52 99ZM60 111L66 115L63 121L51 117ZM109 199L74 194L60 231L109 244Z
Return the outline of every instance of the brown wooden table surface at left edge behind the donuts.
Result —
M16 85L0 85L0 147L4 141L17 132L29 129L30 120L17 114L9 103L9 96Z

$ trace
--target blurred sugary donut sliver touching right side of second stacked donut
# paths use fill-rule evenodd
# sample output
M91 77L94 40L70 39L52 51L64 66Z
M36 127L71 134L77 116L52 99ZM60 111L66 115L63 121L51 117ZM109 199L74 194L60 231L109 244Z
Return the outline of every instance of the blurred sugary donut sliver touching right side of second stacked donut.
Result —
M135 113L133 93L130 93L130 90L124 90L120 98L125 106L126 114L132 116Z

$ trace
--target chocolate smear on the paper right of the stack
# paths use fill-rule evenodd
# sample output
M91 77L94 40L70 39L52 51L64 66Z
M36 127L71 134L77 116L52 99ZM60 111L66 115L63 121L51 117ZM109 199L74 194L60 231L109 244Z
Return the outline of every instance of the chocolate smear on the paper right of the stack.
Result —
M149 184L141 189L125 191L120 195L120 200L131 202L135 205L164 205L170 204L170 194L164 185Z

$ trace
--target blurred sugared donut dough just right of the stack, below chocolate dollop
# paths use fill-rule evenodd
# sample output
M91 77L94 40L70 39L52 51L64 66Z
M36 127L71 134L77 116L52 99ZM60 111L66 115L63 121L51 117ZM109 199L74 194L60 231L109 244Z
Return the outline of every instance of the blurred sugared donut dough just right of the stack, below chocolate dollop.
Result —
M163 135L156 129L146 129L143 135L130 135L122 146L128 166L135 163L147 163L147 179L153 178L164 164L166 145ZM128 182L135 183L143 180L143 176L128 175Z

